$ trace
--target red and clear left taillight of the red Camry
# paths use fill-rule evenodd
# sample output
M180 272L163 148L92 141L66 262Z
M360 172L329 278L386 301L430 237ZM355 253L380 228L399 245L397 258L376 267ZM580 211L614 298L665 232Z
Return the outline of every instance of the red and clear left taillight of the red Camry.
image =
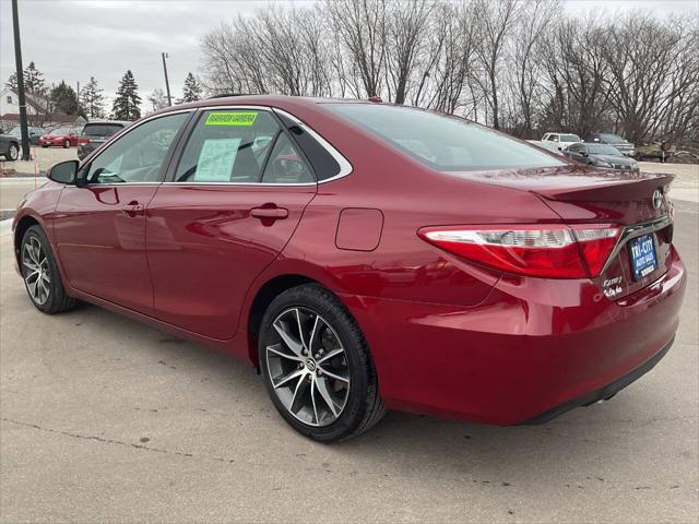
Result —
M519 275L599 276L619 237L618 226L445 226L418 231L424 240L464 259Z

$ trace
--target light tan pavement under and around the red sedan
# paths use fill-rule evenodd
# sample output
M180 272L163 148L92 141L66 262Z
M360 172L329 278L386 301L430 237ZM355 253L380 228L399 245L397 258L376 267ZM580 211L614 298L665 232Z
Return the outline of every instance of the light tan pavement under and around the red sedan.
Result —
M46 317L0 240L0 521L697 522L698 206L676 343L611 402L497 428L391 413L340 445L251 368L95 307Z

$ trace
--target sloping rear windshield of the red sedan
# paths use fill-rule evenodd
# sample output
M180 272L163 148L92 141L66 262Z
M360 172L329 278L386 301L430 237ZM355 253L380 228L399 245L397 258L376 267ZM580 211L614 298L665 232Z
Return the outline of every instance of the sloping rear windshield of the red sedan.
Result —
M565 165L537 147L457 117L376 104L325 107L440 171Z

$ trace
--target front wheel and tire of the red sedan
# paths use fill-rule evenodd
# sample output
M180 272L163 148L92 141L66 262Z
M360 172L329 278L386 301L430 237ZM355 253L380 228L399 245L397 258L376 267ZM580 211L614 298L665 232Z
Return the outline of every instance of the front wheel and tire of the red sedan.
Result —
M78 300L66 293L51 245L39 226L32 226L24 234L20 264L24 287L36 309L54 314L75 307Z

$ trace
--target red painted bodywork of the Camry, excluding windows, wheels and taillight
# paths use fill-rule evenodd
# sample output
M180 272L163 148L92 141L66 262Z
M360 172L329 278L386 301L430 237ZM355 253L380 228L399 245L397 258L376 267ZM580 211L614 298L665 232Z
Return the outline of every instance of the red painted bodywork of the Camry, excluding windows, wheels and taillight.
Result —
M438 172L319 102L250 96L178 109L282 109L340 151L348 176L305 187L48 182L14 227L45 228L70 295L252 364L256 298L274 283L318 282L359 323L391 408L517 424L618 380L672 341L686 285L672 225L656 234L659 269L637 282L626 249L599 276L546 278L473 263L418 236L459 225L632 226L671 213L666 200L651 202L671 177L565 159ZM288 216L265 218L275 210ZM620 291L607 298L616 275Z

